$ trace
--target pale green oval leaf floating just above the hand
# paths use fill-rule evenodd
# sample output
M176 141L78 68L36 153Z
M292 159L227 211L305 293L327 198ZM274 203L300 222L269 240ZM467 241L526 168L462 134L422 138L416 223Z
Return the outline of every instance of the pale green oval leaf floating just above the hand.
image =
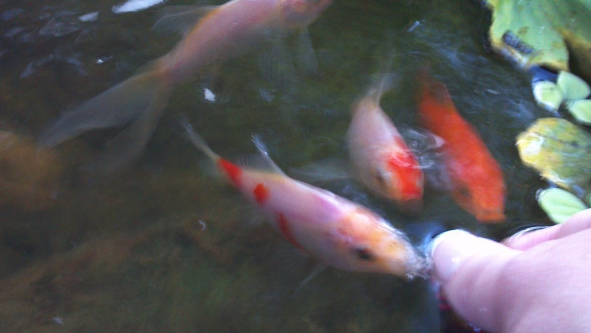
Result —
M563 223L587 206L570 192L560 188L548 188L538 192L538 204L554 223Z

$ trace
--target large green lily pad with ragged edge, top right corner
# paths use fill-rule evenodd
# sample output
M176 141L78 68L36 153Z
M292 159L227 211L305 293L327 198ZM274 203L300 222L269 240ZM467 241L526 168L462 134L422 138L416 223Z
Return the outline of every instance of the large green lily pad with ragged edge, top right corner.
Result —
M491 45L524 67L569 71L572 60L591 77L591 0L486 0ZM568 48L567 48L568 45Z

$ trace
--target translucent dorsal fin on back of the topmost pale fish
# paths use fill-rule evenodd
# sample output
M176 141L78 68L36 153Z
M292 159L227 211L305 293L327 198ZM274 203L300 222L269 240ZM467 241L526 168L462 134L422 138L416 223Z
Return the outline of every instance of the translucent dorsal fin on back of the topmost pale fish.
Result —
M158 11L152 30L186 35L200 19L219 6L166 6Z

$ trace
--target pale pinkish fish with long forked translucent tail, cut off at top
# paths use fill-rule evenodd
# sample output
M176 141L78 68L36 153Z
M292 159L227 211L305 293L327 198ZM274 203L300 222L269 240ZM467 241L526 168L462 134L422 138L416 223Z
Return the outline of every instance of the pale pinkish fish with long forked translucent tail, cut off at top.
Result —
M170 6L154 28L182 32L184 38L176 47L137 75L61 116L41 133L39 142L56 146L86 130L129 124L109 142L114 153L103 156L106 169L128 164L150 139L173 87L192 79L203 67L237 57L265 41L280 45L280 37L294 30L301 30L304 45L311 47L306 27L331 2L232 0L219 6ZM313 51L309 51L311 56L304 61L314 66ZM278 61L270 63L279 66Z

